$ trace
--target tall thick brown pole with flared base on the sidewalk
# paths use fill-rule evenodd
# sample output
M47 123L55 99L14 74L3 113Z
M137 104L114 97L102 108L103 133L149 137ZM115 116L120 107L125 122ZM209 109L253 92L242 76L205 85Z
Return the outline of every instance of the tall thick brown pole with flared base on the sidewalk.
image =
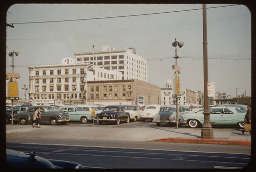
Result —
M210 125L209 97L208 97L208 57L207 57L207 27L206 5L203 4L203 55L204 55L204 125L201 130L201 138L212 139L214 133Z

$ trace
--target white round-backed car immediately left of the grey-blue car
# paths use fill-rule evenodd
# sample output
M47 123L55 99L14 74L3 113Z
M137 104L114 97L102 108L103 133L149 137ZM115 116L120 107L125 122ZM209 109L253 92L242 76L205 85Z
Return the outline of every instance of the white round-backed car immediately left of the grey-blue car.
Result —
M146 119L153 120L155 114L157 114L160 111L161 105L147 105L142 111L140 118L143 122L145 122Z

